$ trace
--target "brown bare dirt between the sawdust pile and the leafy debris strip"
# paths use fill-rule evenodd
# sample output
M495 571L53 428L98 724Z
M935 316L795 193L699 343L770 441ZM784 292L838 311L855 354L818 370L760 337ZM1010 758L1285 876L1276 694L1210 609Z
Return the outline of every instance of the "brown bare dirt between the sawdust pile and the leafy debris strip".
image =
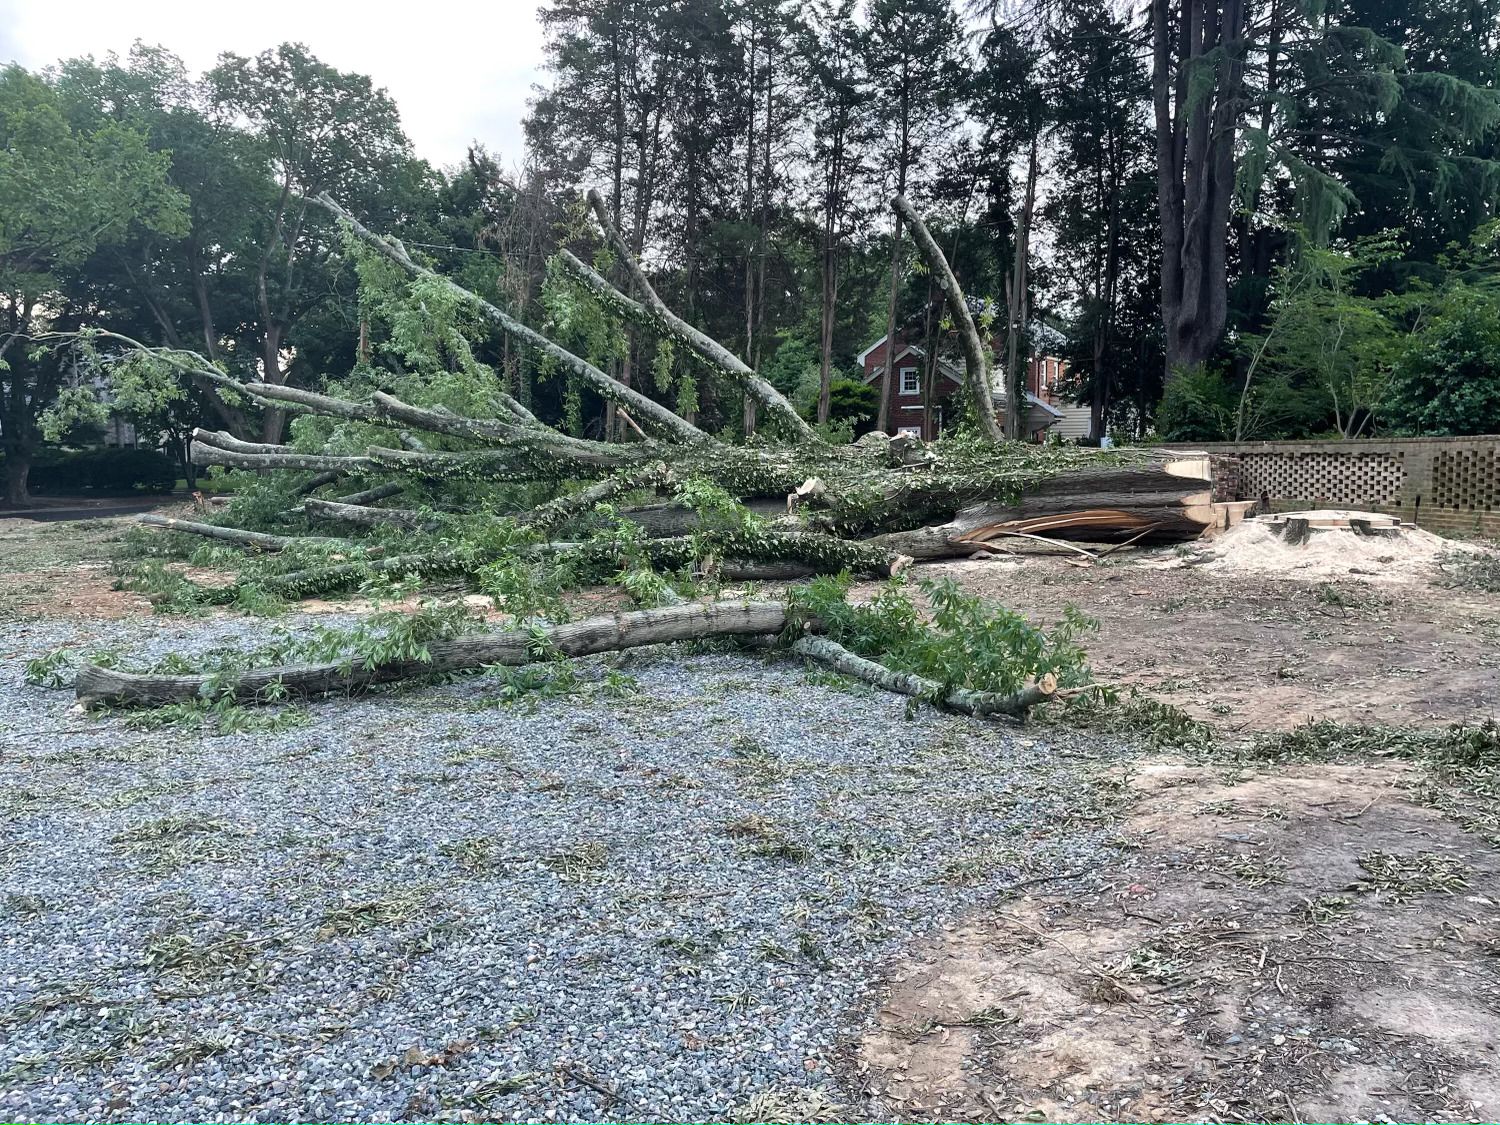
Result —
M1089 662L1222 730L1314 718L1450 723L1500 698L1500 596L1430 580L1299 580L1160 568L1172 549L1090 568L1053 556L922 567L1030 618L1074 604L1100 621Z

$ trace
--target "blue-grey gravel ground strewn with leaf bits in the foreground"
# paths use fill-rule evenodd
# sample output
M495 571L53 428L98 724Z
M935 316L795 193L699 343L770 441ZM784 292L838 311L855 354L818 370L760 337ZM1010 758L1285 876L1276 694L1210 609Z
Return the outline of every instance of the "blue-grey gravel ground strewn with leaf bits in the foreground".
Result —
M704 1120L798 1090L858 1118L840 1058L882 968L1113 850L1088 738L750 656L231 735L21 682L62 644L261 630L0 627L0 1119Z

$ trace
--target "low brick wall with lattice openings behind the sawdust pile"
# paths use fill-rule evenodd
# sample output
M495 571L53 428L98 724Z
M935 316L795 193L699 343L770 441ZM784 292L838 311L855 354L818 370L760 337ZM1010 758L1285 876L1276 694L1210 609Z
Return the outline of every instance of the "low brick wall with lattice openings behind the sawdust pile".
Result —
M1446 532L1500 536L1500 436L1210 441L1172 448L1215 458L1216 500L1365 508ZM1228 495L1228 494L1233 495Z

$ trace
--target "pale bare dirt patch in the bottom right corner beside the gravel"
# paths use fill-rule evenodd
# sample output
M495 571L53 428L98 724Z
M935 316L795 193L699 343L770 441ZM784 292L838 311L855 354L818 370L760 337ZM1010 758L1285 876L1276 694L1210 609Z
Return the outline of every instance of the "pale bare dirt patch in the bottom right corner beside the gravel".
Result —
M1142 764L1089 894L896 966L860 1080L957 1120L1492 1120L1500 862L1401 766Z

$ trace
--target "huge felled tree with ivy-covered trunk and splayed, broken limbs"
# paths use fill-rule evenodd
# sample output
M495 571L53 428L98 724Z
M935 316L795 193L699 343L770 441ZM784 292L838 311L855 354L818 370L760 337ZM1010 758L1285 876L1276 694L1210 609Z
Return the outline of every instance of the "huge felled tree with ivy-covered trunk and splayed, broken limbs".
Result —
M402 243L370 231L328 196L309 202L344 224L350 252L360 261L405 279L400 284L408 286L410 304L420 308L423 324L442 309L465 309L612 404L634 436L597 441L542 422L494 372L472 362L452 333L442 338L438 366L456 366L468 376L464 410L454 408L454 398L444 400L441 378L412 378L399 357L390 366L400 378L381 382L378 372L366 369L344 384L312 392L234 382L192 352L129 340L138 360L154 357L176 378L306 422L292 426L286 444L243 441L222 430L194 432L198 464L255 476L244 490L248 498L231 502L222 524L144 520L160 531L204 537L220 552L222 544L244 550L236 582L204 588L180 579L178 594L186 590L200 603L225 604L250 594L296 600L370 584L442 580L490 594L519 621L536 618L538 606L550 604L548 598L560 588L614 582L648 608L576 624L434 640L420 658L354 657L243 669L230 678L88 666L76 681L86 705L158 705L206 694L264 702L675 639L783 634L788 604L693 598L714 592L724 580L838 573L894 578L914 560L970 555L990 549L999 537L1034 536L1038 520L1114 542L1186 538L1212 524L1206 460L1044 448L1000 436L987 350L968 300L904 200L892 206L914 230L958 326L963 394L980 420L976 432L932 444L879 434L854 444L824 440L771 382L668 308L597 196L591 196L594 216L630 291L564 252L556 276L572 286L572 300L588 303L614 324L656 333L686 350L692 363L754 404L772 440L741 444L711 435L615 378L603 360L570 351L417 261ZM441 334L436 326L430 330ZM405 346L402 354L410 358L410 339ZM258 490L278 502L256 500ZM400 496L400 504L386 506L393 496ZM256 513L258 525L236 525L242 512ZM838 618L832 614L831 620ZM920 646L908 651L904 668L886 666L882 656L898 656L903 648L897 636L849 648L848 638L802 636L822 628L818 615L798 620L801 633L784 636L796 654L970 714L1024 714L1056 686L1056 668L1036 656L1050 650L1035 639L1026 640L1032 652L1022 662L1022 680L1011 669L999 680L987 674L962 682L954 662L934 663L927 670L938 675L927 675L924 658L914 656ZM978 618L970 614L970 626L974 621ZM906 627L916 628L915 618ZM998 636L1020 638L1020 630L1008 622Z

